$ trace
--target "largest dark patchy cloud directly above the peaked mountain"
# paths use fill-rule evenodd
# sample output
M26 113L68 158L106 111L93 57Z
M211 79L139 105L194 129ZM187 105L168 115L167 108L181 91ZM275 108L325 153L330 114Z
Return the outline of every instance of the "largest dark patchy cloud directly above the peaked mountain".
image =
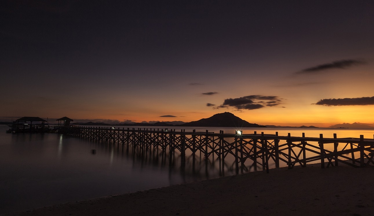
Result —
M274 107L281 104L281 99L278 96L263 96L263 95L249 95L240 98L225 99L223 104L214 109L235 107L240 109L260 109L265 106Z

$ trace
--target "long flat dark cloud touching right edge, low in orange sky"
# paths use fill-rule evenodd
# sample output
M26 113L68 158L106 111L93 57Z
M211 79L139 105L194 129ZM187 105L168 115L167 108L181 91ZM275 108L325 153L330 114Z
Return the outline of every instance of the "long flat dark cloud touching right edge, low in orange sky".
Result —
M374 97L321 99L316 105L346 106L346 105L374 105Z

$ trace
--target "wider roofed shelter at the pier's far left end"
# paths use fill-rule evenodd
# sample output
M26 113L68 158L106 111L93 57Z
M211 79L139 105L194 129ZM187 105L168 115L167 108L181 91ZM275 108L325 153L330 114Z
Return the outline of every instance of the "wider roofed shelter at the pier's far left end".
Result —
M30 123L29 123L30 122ZM33 125L34 122L34 125ZM36 122L36 123L35 123ZM7 133L44 133L49 130L46 120L39 117L22 117L13 121Z

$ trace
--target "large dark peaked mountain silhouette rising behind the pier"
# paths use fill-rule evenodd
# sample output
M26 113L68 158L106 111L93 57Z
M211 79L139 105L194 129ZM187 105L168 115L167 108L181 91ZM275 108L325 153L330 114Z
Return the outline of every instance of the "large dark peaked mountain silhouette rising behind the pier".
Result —
M187 127L264 127L242 120L230 112L218 113L209 118L191 121L179 126Z

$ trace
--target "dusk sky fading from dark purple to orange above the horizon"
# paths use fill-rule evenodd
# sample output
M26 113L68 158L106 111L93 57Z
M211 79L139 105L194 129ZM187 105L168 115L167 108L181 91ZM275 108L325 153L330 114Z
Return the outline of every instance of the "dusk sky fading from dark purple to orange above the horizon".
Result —
M374 1L12 1L0 118L374 125Z

